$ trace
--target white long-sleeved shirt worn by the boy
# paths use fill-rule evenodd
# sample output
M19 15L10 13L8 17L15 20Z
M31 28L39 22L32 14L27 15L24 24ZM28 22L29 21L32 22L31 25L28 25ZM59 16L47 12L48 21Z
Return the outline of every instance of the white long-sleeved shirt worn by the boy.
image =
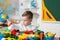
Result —
M11 26L8 27L9 30L13 30L13 29L16 29L16 30L20 30L20 31L36 31L37 30L37 27L36 26L33 26L33 25L28 25L28 26L24 26L23 24L12 24Z

